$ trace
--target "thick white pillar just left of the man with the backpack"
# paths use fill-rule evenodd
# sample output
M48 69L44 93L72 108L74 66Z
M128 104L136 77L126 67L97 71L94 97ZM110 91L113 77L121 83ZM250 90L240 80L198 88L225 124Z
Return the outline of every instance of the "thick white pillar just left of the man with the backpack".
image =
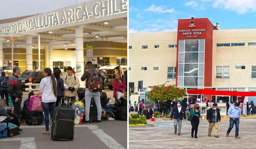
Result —
M80 80L80 87L85 87L85 82L81 82L84 74L84 38L83 26L76 26L76 75Z

